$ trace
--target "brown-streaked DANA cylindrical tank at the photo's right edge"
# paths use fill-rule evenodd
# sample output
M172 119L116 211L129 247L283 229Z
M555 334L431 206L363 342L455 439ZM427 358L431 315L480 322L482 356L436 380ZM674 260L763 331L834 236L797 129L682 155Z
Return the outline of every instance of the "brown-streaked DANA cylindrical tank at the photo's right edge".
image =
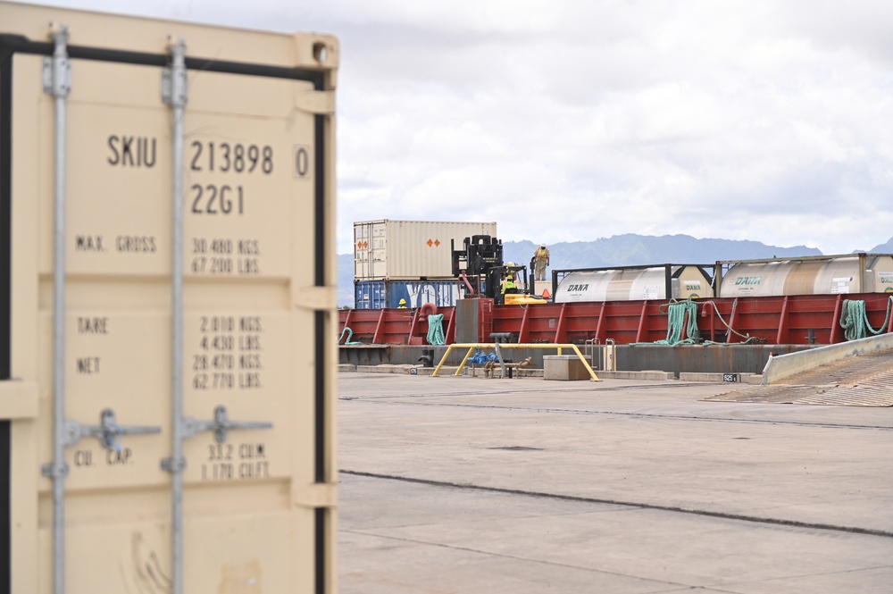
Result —
M893 255L742 262L729 268L720 286L720 297L874 292L893 292Z

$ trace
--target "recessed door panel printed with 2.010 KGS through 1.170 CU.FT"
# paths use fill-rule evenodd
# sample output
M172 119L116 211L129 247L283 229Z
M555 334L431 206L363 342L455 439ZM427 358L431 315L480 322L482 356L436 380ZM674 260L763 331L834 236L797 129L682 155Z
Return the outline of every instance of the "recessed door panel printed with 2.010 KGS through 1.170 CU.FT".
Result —
M271 422L271 429L213 431L189 439L188 481L263 481L288 473L289 431L296 396L290 316L280 311L212 311L184 319L184 414L213 419L226 406L238 422Z

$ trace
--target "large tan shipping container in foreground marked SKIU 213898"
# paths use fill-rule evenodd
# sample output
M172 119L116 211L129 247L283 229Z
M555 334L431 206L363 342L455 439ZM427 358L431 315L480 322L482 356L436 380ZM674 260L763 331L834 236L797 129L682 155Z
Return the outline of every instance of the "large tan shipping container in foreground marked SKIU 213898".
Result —
M337 68L0 2L10 591L336 590Z

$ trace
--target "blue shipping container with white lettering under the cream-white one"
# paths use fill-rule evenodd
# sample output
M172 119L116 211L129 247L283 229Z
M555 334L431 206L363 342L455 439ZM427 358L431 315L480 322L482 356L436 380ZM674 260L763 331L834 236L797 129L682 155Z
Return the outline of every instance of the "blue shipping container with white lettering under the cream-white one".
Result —
M400 299L406 300L407 307L421 307L426 303L452 306L459 297L457 279L354 281L356 309L399 307Z

